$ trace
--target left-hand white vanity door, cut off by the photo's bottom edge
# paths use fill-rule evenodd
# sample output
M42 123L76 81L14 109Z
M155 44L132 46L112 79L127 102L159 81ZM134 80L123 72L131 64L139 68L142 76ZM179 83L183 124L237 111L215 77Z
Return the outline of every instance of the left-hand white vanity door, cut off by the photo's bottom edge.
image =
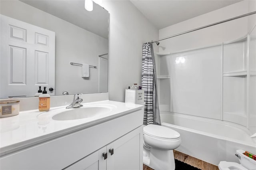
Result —
M104 152L106 153L106 146L78 160L65 170L106 170L106 159L102 156Z

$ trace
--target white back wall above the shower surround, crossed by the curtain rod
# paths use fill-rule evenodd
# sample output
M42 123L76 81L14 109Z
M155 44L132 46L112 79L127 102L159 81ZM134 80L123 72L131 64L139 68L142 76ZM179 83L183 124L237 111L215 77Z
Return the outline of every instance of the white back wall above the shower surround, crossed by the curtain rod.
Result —
M250 3L250 4L249 4ZM206 26L255 11L252 1L242 1L159 30L159 38ZM250 6L250 9L249 9ZM235 40L248 32L248 18L241 18L160 42L159 51L180 51Z

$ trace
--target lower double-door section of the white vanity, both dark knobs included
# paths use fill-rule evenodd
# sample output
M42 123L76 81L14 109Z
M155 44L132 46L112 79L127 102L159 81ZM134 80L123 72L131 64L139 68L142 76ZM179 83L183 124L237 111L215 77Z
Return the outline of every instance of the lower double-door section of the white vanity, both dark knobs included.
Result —
M140 170L141 127L122 136L65 170Z

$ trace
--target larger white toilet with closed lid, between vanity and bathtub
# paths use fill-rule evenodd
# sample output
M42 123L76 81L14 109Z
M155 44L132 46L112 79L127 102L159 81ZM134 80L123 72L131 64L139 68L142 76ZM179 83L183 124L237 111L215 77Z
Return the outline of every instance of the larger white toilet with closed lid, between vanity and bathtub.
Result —
M173 149L180 146L180 134L160 125L143 128L143 163L154 170L174 170Z

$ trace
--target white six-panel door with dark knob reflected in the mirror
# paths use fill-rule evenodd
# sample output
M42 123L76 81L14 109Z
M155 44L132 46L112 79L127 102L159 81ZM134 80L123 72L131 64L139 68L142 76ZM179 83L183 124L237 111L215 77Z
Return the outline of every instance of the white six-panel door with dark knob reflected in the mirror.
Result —
M55 33L3 15L0 22L0 98L55 89Z

